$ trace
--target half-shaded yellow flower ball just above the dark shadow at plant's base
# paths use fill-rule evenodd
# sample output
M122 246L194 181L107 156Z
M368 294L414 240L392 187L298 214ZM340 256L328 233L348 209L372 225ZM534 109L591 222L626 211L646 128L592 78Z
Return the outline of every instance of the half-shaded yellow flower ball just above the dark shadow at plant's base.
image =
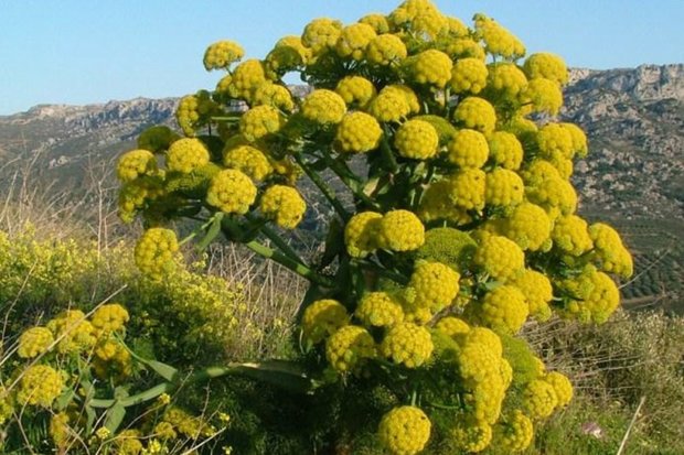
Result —
M355 370L375 357L375 351L373 337L357 325L345 325L325 340L325 358L340 372Z

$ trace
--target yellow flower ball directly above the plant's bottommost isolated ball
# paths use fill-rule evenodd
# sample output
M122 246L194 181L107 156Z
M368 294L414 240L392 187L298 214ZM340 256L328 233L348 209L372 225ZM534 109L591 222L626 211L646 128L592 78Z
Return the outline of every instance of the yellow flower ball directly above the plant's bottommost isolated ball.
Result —
M430 332L409 322L392 326L380 346L383 356L406 368L418 368L428 361L432 349Z

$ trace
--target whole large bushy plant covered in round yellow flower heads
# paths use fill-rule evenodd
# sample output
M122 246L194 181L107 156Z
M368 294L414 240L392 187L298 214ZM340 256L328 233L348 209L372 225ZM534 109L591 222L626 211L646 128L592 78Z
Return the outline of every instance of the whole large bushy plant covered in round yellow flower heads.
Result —
M573 388L520 329L554 313L605 322L614 277L632 272L619 235L576 213L569 177L588 148L555 119L564 62L525 57L494 20L467 26L426 0L350 25L317 19L264 59L243 54L212 44L204 66L223 77L181 99L184 137L154 127L120 158L120 213L148 227L135 256L152 279L182 267L178 219L199 221L200 248L222 235L307 278L302 356L188 381L258 375L318 397L329 405L314 451L527 447ZM292 72L311 89L302 98L282 83ZM334 210L316 262L285 240L304 187ZM178 387L158 367L164 381L136 400Z

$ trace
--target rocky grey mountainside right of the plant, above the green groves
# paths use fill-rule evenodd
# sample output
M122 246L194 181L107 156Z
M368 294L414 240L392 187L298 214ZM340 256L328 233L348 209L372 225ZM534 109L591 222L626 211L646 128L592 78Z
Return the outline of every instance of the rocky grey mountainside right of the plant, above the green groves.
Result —
M585 206L684 218L684 65L576 69L565 98L590 140L575 166Z

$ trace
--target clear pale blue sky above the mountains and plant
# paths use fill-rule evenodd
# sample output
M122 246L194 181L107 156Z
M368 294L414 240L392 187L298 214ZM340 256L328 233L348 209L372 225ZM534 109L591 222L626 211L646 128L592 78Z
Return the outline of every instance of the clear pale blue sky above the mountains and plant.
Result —
M167 97L212 88L206 45L238 41L263 57L313 18L345 23L387 13L398 0L0 0L0 115L36 104ZM437 0L467 23L484 12L528 52L568 65L632 67L683 63L684 0Z

